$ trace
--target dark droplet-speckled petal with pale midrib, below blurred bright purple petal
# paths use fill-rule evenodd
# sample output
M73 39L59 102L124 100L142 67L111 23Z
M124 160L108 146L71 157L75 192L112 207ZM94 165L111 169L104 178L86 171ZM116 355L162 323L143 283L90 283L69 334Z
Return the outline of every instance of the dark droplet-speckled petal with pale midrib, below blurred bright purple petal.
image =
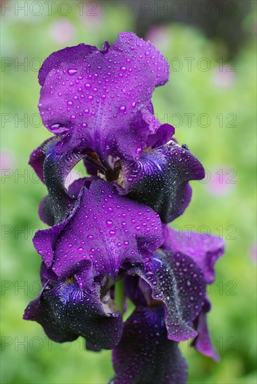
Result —
M196 263L182 253L158 251L152 264L133 272L149 283L152 298L164 303L168 338L184 341L196 337L193 320L203 307L206 293L203 272Z

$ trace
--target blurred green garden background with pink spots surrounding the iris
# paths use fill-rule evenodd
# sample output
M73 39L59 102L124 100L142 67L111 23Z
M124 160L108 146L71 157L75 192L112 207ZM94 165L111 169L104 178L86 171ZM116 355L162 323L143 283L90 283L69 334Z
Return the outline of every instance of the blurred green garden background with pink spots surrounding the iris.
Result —
M170 62L170 82L154 93L156 115L175 126L177 140L207 170L203 182L192 183L191 205L172 226L226 239L209 290L208 320L221 362L184 343L189 383L256 383L256 2L230 1L232 8L225 2L217 19L212 9L203 15L204 8L159 15L157 1L50 3L1 5L1 383L108 383L112 377L110 351L86 352L82 339L54 344L22 315L39 290L41 258L31 238L45 228L37 216L45 186L27 165L50 136L38 118L38 68L54 50L82 42L100 48L119 31L149 38Z

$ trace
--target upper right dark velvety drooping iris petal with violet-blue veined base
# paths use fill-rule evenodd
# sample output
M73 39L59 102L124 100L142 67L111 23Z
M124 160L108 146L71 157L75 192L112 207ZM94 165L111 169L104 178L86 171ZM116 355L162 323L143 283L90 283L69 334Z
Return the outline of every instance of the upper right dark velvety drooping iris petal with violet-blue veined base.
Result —
M148 205L168 223L181 215L191 200L189 180L203 179L203 165L175 142L145 151L138 162L122 161L129 198Z

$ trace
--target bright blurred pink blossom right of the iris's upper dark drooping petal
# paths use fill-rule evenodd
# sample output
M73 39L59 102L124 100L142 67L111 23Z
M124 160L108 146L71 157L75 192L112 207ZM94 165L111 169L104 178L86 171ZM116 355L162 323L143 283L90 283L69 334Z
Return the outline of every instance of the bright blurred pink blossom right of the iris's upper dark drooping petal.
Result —
M237 173L233 168L221 166L212 172L206 172L205 187L214 196L230 195L237 183Z

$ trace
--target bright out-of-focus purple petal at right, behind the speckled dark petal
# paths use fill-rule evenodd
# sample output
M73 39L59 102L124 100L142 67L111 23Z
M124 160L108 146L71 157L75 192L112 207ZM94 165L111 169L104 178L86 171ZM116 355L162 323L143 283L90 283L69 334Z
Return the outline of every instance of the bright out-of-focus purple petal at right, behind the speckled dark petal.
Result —
M224 241L220 237L197 232L178 232L164 227L163 249L182 252L192 258L205 274L205 281L213 283L214 264L223 255Z

